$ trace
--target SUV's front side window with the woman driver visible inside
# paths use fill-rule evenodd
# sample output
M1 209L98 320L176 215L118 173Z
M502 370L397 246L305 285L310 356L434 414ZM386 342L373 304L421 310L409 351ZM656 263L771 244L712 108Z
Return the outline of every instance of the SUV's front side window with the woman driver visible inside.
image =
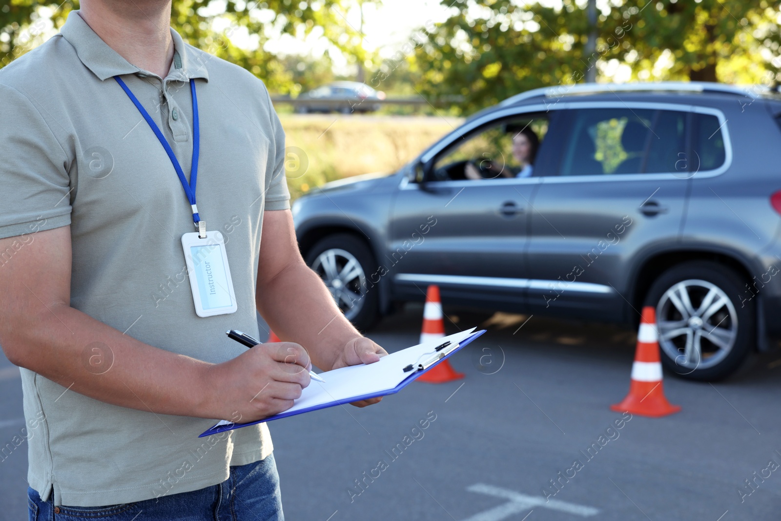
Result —
M432 180L486 180L533 176L547 116L517 116L481 127L446 148Z

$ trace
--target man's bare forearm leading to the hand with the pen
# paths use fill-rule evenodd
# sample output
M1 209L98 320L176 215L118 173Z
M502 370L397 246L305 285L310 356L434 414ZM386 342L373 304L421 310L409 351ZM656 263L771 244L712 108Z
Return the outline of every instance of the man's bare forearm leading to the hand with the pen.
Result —
M203 385L212 364L144 344L67 305L41 308L4 317L0 342L11 362L112 405L215 417Z

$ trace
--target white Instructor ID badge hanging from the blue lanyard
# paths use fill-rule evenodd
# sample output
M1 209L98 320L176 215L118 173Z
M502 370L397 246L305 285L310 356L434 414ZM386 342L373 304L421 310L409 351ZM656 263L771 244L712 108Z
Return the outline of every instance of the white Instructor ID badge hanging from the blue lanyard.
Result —
M215 316L236 312L236 294L223 234L209 231L205 239L198 237L198 232L184 234L182 247L195 313L198 316Z

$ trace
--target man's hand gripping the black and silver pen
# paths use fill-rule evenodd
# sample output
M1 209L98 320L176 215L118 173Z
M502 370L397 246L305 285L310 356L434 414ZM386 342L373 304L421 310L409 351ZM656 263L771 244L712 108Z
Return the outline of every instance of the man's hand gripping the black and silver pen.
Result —
M309 385L312 362L298 344L259 344L235 359L206 370L206 388L212 392L205 409L214 418L234 423L273 416L293 406Z

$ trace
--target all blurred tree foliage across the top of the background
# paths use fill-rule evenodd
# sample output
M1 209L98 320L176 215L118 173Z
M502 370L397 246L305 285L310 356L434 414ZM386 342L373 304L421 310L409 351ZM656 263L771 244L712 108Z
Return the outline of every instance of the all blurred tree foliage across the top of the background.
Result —
M333 79L328 53L315 59L265 50L284 35L309 35L365 66L374 87L393 84L432 102L464 100L454 112L473 112L533 87L580 83L590 68L598 80L768 85L776 84L781 68L779 0L604 0L590 55L583 0L557 7L550 0L441 0L448 20L427 24L411 37L409 52L385 62L362 48L360 31L347 22L348 9L371 2L380 0L177 0L171 23L192 45L243 66L273 92L296 95ZM41 43L47 20L61 27L77 5L4 0L0 66ZM255 47L238 47L242 35L254 37Z

